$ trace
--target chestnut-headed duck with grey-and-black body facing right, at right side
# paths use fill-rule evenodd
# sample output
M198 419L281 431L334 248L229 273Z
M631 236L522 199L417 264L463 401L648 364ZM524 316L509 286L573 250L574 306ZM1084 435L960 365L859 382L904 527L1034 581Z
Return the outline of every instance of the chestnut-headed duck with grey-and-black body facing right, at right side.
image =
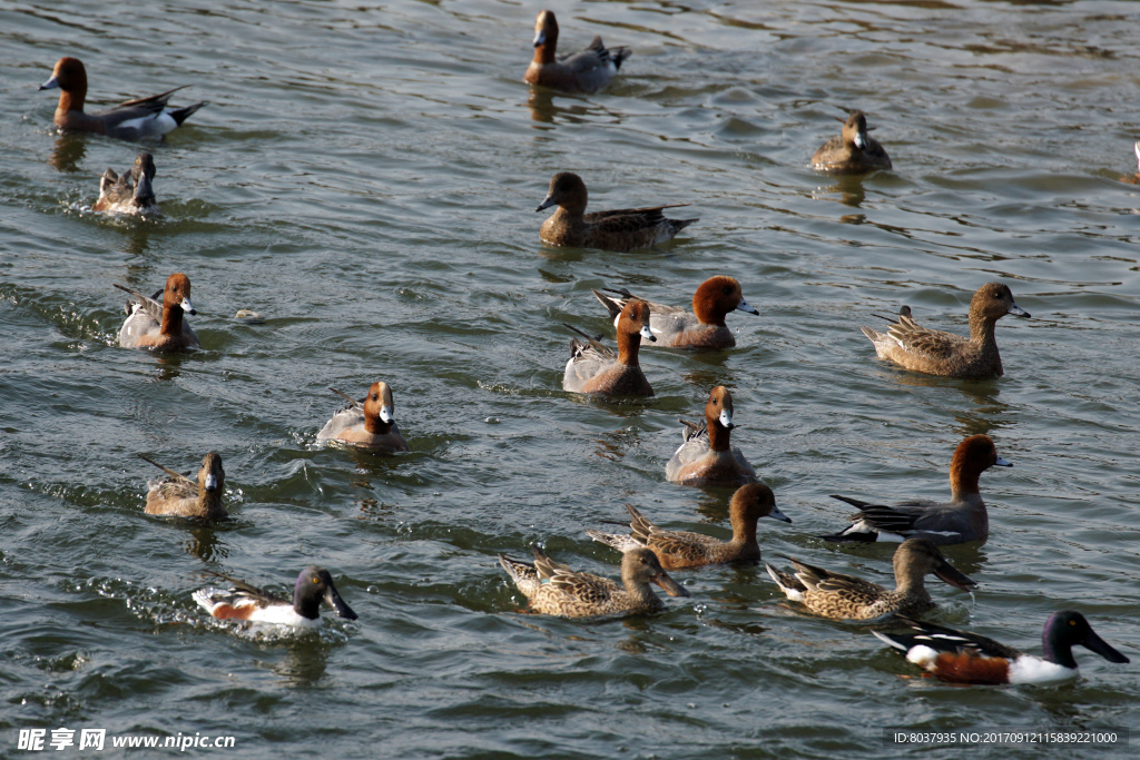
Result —
M893 505L871 504L832 493L860 512L852 524L829 541L901 541L920 536L934 544L966 544L990 538L990 516L978 491L978 477L992 466L1012 467L997 456L988 435L971 435L954 450L950 461L950 501L910 499Z

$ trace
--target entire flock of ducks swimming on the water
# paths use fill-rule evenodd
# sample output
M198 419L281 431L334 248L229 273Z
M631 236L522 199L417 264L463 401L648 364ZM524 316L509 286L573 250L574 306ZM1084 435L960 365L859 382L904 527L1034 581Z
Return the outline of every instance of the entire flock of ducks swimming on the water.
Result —
M630 55L627 48L606 48L601 38L595 36L586 49L560 58L557 42L555 15L544 10L535 25L534 60L524 74L531 85L596 93L610 84ZM78 58L64 57L40 88L60 91L55 114L55 124L60 131L90 132L123 140L161 139L205 105L171 107L172 95L181 89L176 88L89 114L84 109L87 87L83 64ZM1140 156L1140 144L1137 155ZM891 169L886 149L868 134L866 115L861 111L850 113L840 134L821 146L811 163L817 171L833 174ZM146 150L139 152L135 164L122 174L108 169L100 178L99 199L93 210L114 214L160 213L155 174L154 157ZM666 215L671 209L668 205L587 213L587 201L581 177L572 172L556 173L537 209L555 207L542 223L542 240L552 246L625 252L666 243L698 221L670 219ZM131 296L127 303L127 320L119 333L121 346L153 351L198 348L197 335L187 319L196 312L190 300L190 280L185 273L171 273L164 288L152 295L122 285L116 287ZM697 288L691 310L649 301L626 289L594 291L594 295L613 319L617 348L606 345L604 336L591 336L567 325L577 337L571 341L562 387L569 393L601 400L653 395L651 379L638 363L643 341L656 349L726 351L735 345L726 317L736 311L759 313L746 301L741 284L724 276L711 277ZM1017 305L1005 284L986 283L977 288L970 302L968 337L922 327L905 305L897 314L883 318L887 321L885 329L862 329L879 358L907 370L986 379L1003 374L995 326L1007 314L1029 317ZM255 320L258 316L247 313L244 317ZM349 403L319 431L318 441L359 447L381 455L409 450L397 427L393 393L386 383L373 382L361 400L341 391L335 393ZM670 531L629 505L628 531L587 531L593 539L621 554L620 582L576 571L547 556L539 546L531 546L532 556L527 558L499 555L502 569L528 599L527 611L568 618L652 613L665 608L665 603L651 583L670 596L690 596L670 578L670 570L759 562L758 521L771 517L791 523L791 520L779 509L772 489L760 482L743 452L733 448L733 415L730 390L723 385L712 387L703 418L697 423L681 420L683 442L665 467L666 479L674 483L738 488L730 502L731 540ZM165 473L149 484L147 514L201 521L227 518L222 502L226 473L218 452L205 455L196 479L150 459L147 461ZM792 557L787 557L790 570L767 564L767 572L787 597L806 612L823 619L874 626L871 632L883 643L905 653L907 660L926 671L952 683L1021 684L1072 678L1077 672L1072 651L1075 645L1110 662L1129 662L1074 611L1058 611L1044 622L1042 656L919 619L936 606L925 586L927 575L934 574L959 589L968 590L976 585L950 563L939 547L987 540L990 525L978 482L993 466L1012 465L999 456L988 436L971 435L952 455L951 493L945 501L909 500L886 505L834 495L833 498L852 505L856 512L849 524L837 525L833 534L823 538L836 542L896 546L894 589ZM243 624L312 628L319 623L323 605L342 618L357 618L341 598L328 571L318 566L301 572L292 598L214 574L226 582L196 591L194 599L218 619L245 621Z

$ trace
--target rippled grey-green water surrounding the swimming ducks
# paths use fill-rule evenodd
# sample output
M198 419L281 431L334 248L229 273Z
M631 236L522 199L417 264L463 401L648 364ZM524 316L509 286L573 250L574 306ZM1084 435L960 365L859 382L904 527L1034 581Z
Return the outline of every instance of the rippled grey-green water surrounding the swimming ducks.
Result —
M564 50L634 49L588 98L521 83L542 7L0 8L0 755L30 727L233 735L242 757L832 758L909 752L887 726L1140 724L1140 190L1118 181L1140 5L557 6ZM88 211L136 148L52 134L35 88L62 55L96 104L186 83L176 103L210 101L155 148L161 220ZM812 172L854 107L895 171ZM594 209L701 221L661 251L546 247L534 207L561 170ZM203 350L115 346L112 284L173 271ZM561 392L561 322L611 334L591 288L681 304L714 273L762 311L730 317L736 350L643 351L643 403ZM905 302L964 333L993 279L1033 313L1000 324L999 381L901 371L857 329ZM412 453L315 446L327 387L376 379ZM954 446L987 433L1015 468L983 476L992 538L947 550L982 587L936 583L938 619L1040 652L1074 607L1133 664L1081 649L1084 678L1052 688L899 678L762 567L679 572L692 598L652 618L518 614L496 554L545 541L616 573L583 529L626 501L727 534L730 491L663 479L715 384L795 521L762 524L767 558L886 580L889 547L815 538L848 512L826 495L944 496ZM188 469L207 449L234 520L144 515L136 453ZM310 562L358 622L243 634L190 599L205 569L285 589Z

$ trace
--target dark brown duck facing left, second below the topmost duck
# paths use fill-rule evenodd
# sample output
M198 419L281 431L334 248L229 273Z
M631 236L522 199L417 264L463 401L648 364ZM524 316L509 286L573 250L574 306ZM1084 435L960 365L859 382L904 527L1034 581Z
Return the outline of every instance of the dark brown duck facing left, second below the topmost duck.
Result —
M650 209L620 209L586 213L586 183L572 172L559 172L551 178L551 188L538 209L559 209L543 222L539 237L547 245L605 251L634 251L671 240L697 219L666 219L662 209L687 204L676 203Z

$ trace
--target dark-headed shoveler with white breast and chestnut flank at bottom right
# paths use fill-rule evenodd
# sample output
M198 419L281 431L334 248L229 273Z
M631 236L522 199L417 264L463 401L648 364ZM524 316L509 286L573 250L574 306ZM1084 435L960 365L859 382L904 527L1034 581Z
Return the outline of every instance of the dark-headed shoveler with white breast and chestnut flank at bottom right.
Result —
M1131 662L1100 638L1084 615L1073 610L1049 615L1041 635L1044 652L1041 657L969 631L919 622L905 615L896 615L895 620L918 632L871 632L905 652L910 662L950 684L1054 684L1069 680L1077 676L1073 657L1076 645L1096 652L1109 662Z

